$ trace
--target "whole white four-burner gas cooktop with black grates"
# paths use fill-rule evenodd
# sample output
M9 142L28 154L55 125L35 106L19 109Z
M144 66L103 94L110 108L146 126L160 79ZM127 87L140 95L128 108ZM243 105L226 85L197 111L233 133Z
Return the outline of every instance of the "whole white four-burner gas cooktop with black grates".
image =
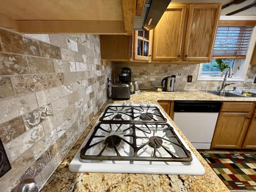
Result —
M69 165L71 172L203 175L204 167L159 107L108 104Z

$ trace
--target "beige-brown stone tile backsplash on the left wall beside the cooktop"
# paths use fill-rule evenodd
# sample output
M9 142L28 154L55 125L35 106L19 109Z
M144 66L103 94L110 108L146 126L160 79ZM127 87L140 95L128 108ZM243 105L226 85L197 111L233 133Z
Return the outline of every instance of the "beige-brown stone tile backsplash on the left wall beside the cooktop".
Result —
M107 99L112 63L100 38L0 28L0 138L12 169L1 191L47 181Z

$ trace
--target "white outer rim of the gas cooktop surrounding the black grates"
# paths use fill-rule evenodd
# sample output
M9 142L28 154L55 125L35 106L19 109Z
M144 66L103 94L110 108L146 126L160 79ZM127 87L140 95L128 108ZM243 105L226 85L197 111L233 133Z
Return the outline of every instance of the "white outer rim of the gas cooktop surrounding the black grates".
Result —
M107 106L117 106L118 104L108 104ZM129 104L128 104L129 105ZM139 104L134 104L139 106ZM107 107L106 106L106 107ZM152 104L152 106L156 106ZM105 110L104 110L105 111ZM103 111L103 112L104 112ZM103 113L102 113L103 114ZM100 115L100 117L102 116ZM166 116L163 114L166 118ZM167 118L166 118L167 119ZM99 119L96 124L99 123ZM167 120L168 124L172 124ZM92 130L94 127L92 128ZM184 175L203 175L205 169L194 153L190 150L178 132L174 129L182 144L191 152L192 162L158 162L158 161L110 161L110 160L81 160L80 151L88 141L92 130L84 140L69 165L71 172L100 172L100 173L137 173L137 174L184 174Z

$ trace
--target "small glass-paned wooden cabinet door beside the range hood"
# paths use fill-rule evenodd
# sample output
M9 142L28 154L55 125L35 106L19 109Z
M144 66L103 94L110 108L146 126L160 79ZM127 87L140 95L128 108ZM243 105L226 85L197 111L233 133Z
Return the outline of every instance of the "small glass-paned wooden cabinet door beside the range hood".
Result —
M134 31L134 60L149 61L152 31Z

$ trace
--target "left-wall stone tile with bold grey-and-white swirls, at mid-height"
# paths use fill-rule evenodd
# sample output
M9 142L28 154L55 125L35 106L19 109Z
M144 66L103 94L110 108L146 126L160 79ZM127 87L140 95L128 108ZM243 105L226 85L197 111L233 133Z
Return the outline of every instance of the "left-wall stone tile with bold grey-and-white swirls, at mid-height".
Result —
M52 116L51 104L42 106L22 116L26 128L29 130Z

